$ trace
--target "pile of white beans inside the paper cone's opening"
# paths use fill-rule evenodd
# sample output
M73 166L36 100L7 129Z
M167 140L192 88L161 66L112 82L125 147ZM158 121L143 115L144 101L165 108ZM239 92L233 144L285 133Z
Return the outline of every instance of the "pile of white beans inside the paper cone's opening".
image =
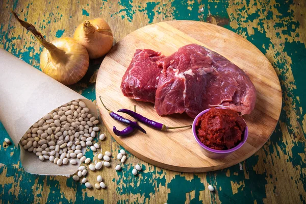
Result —
M95 126L98 122L83 101L73 100L34 123L20 143L41 161L49 160L59 166L68 162L77 164L77 158L86 159L82 148L91 146L93 151L99 148L97 143L92 144L99 131Z

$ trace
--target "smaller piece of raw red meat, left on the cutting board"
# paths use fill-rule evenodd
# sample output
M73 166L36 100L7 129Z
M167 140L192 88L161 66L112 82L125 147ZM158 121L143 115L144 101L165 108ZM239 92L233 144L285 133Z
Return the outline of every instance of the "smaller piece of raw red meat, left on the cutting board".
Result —
M156 61L163 55L151 49L136 49L131 64L121 81L124 96L145 102L155 102L155 92L161 74Z

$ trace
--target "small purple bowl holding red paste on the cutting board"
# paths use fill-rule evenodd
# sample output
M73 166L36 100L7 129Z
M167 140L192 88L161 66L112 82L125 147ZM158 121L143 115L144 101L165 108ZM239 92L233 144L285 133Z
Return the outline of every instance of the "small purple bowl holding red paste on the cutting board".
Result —
M212 159L222 159L222 158L225 158L225 157L227 157L228 155L232 154L232 152L236 151L236 150L239 149L240 147L242 147L242 145L245 143L245 141L246 141L246 139L247 139L247 136L248 136L248 128L247 128L247 126L245 127L241 142L240 142L237 146L235 146L234 148L232 148L232 149L227 149L227 150L216 150L216 149L209 148L208 146L204 145L204 144L199 140L199 138L198 138L197 135L196 135L196 130L195 130L195 123L196 123L197 119L198 119L200 116L202 116L203 114L207 113L209 110L210 110L210 109L206 109L206 110L200 112L200 113L194 118L194 121L193 121L193 123L192 123L192 133L193 133L193 136L194 136L196 142L203 148L204 154L205 154L207 157L212 158Z

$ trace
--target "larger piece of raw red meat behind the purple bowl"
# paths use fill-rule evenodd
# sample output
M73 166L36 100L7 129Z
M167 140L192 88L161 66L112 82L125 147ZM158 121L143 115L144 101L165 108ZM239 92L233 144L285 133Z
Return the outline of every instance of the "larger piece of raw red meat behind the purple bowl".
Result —
M212 50L189 44L157 62L163 68L155 99L159 115L186 112L194 118L211 107L249 114L256 89L235 64Z

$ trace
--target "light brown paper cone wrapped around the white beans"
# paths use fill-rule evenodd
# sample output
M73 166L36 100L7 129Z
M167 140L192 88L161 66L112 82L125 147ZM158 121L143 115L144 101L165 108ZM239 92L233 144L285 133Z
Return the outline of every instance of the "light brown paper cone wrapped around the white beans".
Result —
M35 122L71 100L81 99L97 117L92 101L0 48L0 120L14 144ZM70 175L80 166L58 166L40 161L33 153L20 148L25 171L42 175Z

